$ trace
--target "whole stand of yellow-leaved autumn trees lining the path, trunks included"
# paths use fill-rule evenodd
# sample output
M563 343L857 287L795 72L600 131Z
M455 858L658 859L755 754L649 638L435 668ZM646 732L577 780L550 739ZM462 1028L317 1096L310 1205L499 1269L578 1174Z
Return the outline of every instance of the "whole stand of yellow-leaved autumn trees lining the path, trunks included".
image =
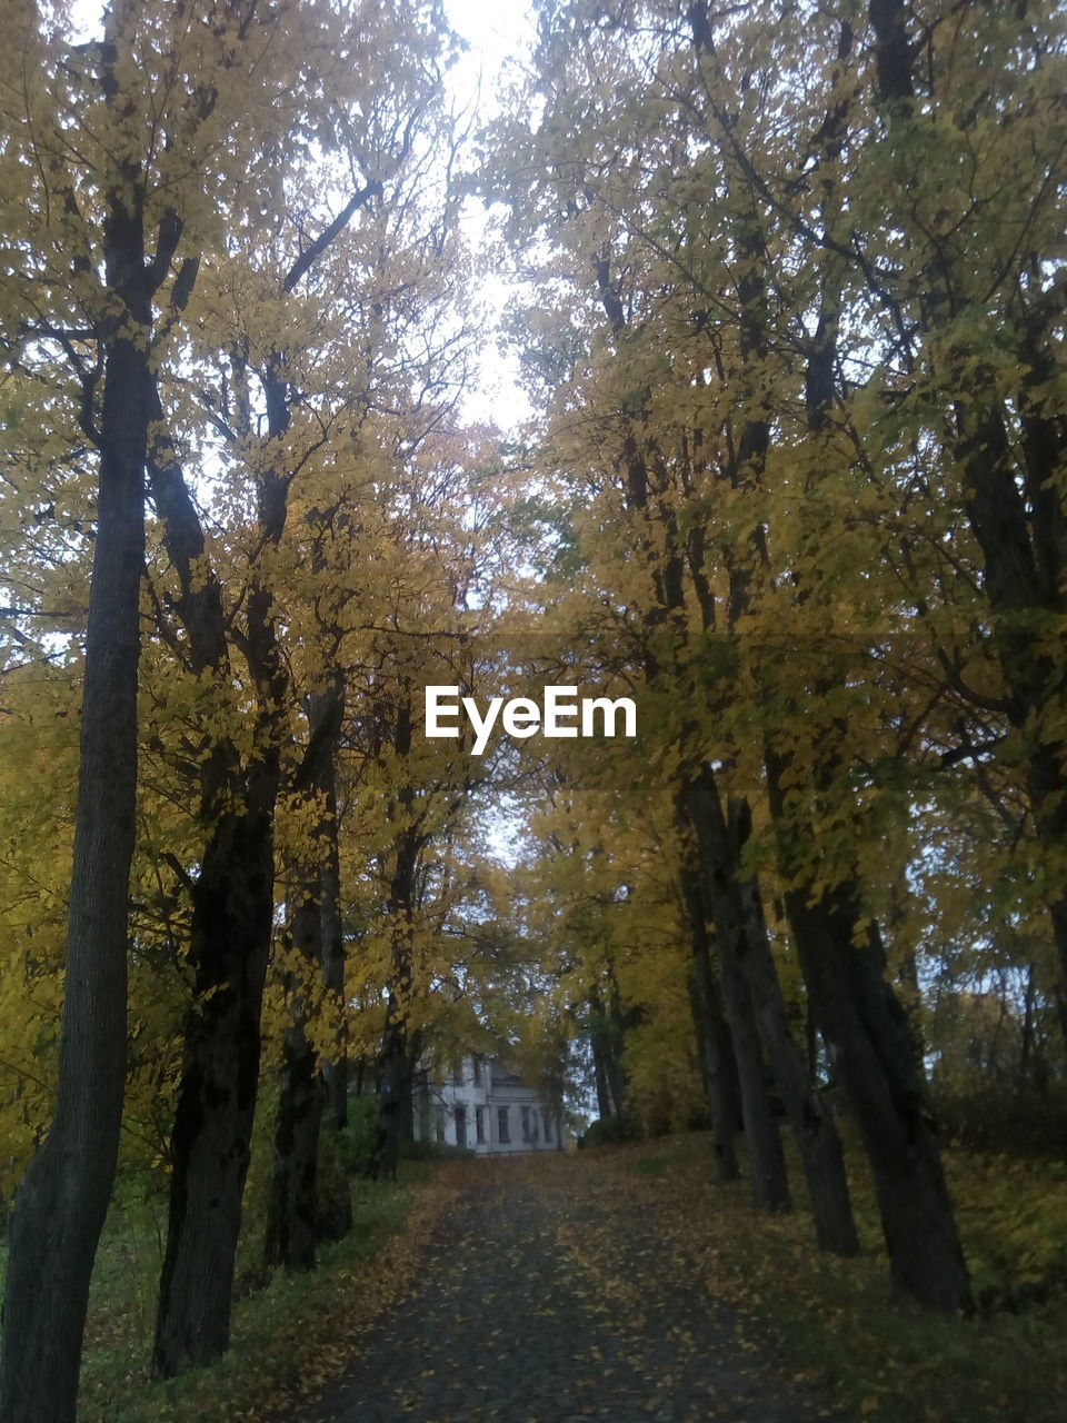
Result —
M969 1312L939 1124L1067 1104L1063 7L541 0L474 115L435 0L7 10L4 1417L74 1417L115 1171L169 1377L258 1107L310 1269L464 1050L760 1210L788 1131L841 1255L856 1146Z

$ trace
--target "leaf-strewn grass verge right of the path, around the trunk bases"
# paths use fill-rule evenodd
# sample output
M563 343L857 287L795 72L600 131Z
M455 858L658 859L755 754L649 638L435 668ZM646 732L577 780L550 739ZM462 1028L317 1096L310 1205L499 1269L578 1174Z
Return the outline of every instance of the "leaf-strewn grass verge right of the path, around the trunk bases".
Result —
M946 1153L980 1311L943 1319L889 1301L869 1180L858 1153L849 1157L864 1252L848 1261L815 1251L807 1211L757 1215L745 1183L711 1185L703 1134L625 1148L617 1164L699 1252L713 1288L788 1370L828 1385L846 1417L1058 1423L1067 1399L1063 1165ZM800 1180L795 1161L791 1178Z

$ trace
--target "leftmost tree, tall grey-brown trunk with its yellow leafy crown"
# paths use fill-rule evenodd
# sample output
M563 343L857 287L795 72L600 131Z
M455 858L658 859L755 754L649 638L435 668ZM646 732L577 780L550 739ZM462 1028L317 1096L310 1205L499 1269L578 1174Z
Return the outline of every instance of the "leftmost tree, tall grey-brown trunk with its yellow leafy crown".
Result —
M0 1410L74 1416L81 1333L111 1190L125 1083L127 896L137 787L144 471L162 357L196 276L189 174L216 161L205 129L239 43L226 7L208 38L165 13L108 6L100 41L65 43L14 14L4 73L9 176L24 195L20 269L6 279L30 364L67 356L97 455L78 797L55 1111L11 1222ZM139 23L138 23L139 21ZM24 75L40 74L40 87ZM149 110L152 85L166 94ZM148 117L151 112L151 118ZM85 141L71 144L81 120ZM198 231L199 229L199 231Z

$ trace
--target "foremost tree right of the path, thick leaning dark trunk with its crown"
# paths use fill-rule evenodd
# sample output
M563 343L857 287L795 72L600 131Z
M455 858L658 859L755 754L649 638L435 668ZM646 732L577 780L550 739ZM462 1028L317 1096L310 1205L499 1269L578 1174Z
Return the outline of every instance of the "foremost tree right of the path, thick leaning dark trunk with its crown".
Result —
M849 667L842 686L832 638L815 672L819 643L809 640L839 622L848 629L849 616L854 629L875 628L876 619L883 625L901 606L903 582L898 529L875 522L886 484L895 490L902 471L856 438L837 379L844 343L858 360L872 343L858 296L866 277L845 236L858 213L868 216L858 192L868 199L874 192L856 188L866 174L845 101L852 30L845 18L822 17L812 51L807 31L792 28L801 23L794 11L775 26L713 17L703 6L684 13L649 6L640 14L643 23L632 13L603 24L593 7L546 10L538 75L543 115L535 135L514 132L505 149L505 172L516 175L522 192L519 221L551 233L566 253L569 282L583 293L572 330L576 312L588 327L593 303L607 320L607 332L586 339L570 369L589 414L573 420L573 388L561 391L551 455L556 465L599 472L600 527L607 518L612 525L595 538L600 546L629 546L625 575L619 562L600 566L606 579L619 572L612 601L630 623L642 616L649 623L652 615L649 625L662 629L656 673L686 667L671 640L684 647L694 626L706 639L699 657L689 655L703 666L703 680L689 676L680 684L679 702L699 710L679 744L691 757L681 784L703 841L708 918L721 941L724 996L733 1002L727 1009L731 1027L741 1025L734 1047L751 1052L753 1043L738 1016L741 982L750 996L757 979L773 986L763 972L736 976L730 962L738 949L737 966L765 962L747 948L765 931L758 898L745 898L744 884L767 841L737 832L758 822L757 808L767 805L781 831L778 845L801 851L801 861L780 857L765 872L790 885L785 898L817 1020L835 1046L844 1037L852 1043L838 1057L839 1074L881 1173L893 1288L935 1308L966 1308L966 1272L913 1036L886 978L875 918L881 889L855 854L869 834L859 825L856 781L879 754L892 713L876 676ZM578 73L592 83L580 87ZM795 74L797 100L781 83L787 73ZM865 135L858 124L856 131ZM575 132L580 144L569 137ZM538 157L545 176L531 188ZM593 423L595 454L583 444ZM881 508L868 519L861 507L842 521L855 491L872 505L882 501ZM859 568L865 582L855 578ZM785 630L792 640L782 643ZM855 638L852 629L848 635ZM717 639L724 639L718 652ZM787 680L792 690L781 697ZM703 689L711 690L700 707ZM849 714L864 706L849 726ZM755 744L768 747L763 766L750 756L754 729ZM865 734L872 740L861 746ZM787 795L780 794L782 774ZM893 807L906 814L905 803L886 795L886 822ZM822 925L817 945L812 919ZM773 1032L770 1019L767 1027ZM795 1052L778 1054L780 1072L790 1059L795 1063ZM874 1090L879 1077L885 1090ZM747 1101L755 1103L755 1063L745 1080ZM881 1124L879 1103L888 1104ZM903 1174L902 1160L909 1163ZM916 1191L928 1202L925 1239L912 1210Z

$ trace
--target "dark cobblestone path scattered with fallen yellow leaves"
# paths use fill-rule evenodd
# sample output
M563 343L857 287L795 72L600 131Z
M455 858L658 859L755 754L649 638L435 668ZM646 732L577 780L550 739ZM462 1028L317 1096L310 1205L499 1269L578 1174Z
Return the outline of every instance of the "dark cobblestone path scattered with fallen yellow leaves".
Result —
M782 1382L640 1202L580 1155L472 1163L417 1294L293 1423L835 1417Z

